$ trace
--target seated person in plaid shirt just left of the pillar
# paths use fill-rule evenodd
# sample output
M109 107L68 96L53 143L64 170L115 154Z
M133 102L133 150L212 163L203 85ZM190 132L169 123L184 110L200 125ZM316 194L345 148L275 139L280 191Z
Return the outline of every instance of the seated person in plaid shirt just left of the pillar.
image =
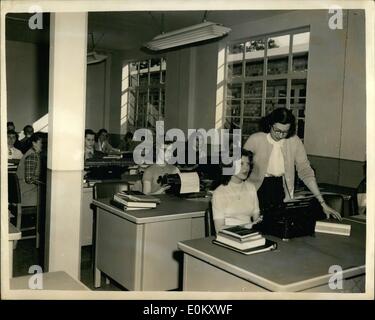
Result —
M29 139L31 148L23 155L17 168L22 206L37 205L38 185L43 184L40 180L42 136L39 133L34 133Z

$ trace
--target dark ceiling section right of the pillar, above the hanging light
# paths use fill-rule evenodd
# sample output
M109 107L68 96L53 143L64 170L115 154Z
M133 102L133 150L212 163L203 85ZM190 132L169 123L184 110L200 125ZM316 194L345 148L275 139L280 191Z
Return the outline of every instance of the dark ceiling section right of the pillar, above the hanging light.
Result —
M285 11L208 11L206 19L230 27L281 13ZM94 34L94 42L99 40L100 48L133 50L162 31L202 22L204 14L204 11L95 12L89 13L89 32ZM89 44L92 45L91 39Z

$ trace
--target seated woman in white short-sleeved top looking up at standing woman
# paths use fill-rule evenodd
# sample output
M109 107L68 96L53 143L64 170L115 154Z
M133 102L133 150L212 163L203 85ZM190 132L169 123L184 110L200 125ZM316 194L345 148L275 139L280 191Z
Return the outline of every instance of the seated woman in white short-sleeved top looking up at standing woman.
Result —
M241 168L235 175L223 175L222 184L212 197L215 230L226 226L247 225L259 221L259 204L255 186L247 181L251 171L252 153L243 150Z

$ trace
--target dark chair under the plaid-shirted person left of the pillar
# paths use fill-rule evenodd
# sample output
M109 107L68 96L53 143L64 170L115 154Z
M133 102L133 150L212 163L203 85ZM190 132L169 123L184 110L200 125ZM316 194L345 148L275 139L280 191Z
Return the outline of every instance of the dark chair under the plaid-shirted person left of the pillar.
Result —
M38 206L30 206L30 207L23 207L22 206L22 198L21 198L21 190L18 181L18 176L15 172L8 173L8 204L9 206L16 207L16 228L21 231L30 231L35 230L34 235L30 236L22 236L20 240L25 239L36 239L35 246L36 248L39 247L39 230L38 230ZM35 225L28 228L22 228L22 215L23 214L32 214L35 213ZM17 241L14 241L13 248L17 248Z

